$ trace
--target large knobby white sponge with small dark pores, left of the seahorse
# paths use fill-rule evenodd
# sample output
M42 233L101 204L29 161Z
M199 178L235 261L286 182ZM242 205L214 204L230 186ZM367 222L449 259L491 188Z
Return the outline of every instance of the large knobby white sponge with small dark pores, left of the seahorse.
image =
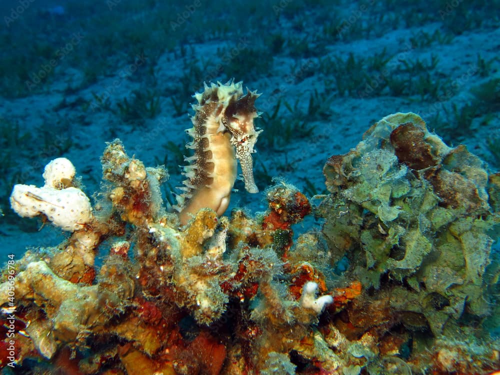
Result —
M92 218L90 201L83 191L71 184L74 166L66 158L57 158L45 166L45 185L16 184L10 194L10 206L22 217L44 214L63 230L83 228Z

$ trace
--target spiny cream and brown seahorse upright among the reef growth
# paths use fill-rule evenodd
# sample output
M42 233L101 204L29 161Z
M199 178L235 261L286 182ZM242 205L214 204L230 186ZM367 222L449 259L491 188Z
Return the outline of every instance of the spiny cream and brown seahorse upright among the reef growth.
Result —
M186 130L192 141L186 148L193 149L191 156L184 156L187 165L182 174L186 177L183 191L177 195L177 206L181 224L185 224L200 208L212 208L221 215L229 205L231 190L237 175L237 160L246 191L258 192L253 179L254 145L258 134L253 119L258 117L254 103L260 96L246 89L243 95L242 82L220 82L204 84L203 92L193 96L193 126Z

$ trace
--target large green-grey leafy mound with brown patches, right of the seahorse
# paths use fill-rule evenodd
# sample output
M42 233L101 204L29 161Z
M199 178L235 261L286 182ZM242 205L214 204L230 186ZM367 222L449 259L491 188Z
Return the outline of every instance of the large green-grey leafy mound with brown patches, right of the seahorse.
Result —
M423 315L437 335L465 310L489 313L483 276L498 187L478 157L446 146L417 115L396 113L330 157L324 173L323 232L332 263L350 260L344 277L380 290L388 277L391 308Z

